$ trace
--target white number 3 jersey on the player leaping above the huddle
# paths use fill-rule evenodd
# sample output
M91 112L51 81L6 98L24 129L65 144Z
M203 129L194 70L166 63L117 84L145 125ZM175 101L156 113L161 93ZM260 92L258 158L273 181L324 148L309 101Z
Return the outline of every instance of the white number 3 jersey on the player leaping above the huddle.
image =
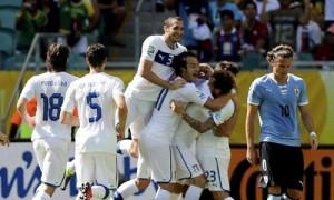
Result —
M179 43L176 43L175 48L170 49L166 44L164 36L150 36L143 43L140 62L144 60L153 61L151 71L160 79L169 80L174 73L171 67L174 57L186 50ZM138 71L140 70L138 69ZM161 87L149 82L137 72L127 88L126 96L135 96L138 99L155 101L160 90Z

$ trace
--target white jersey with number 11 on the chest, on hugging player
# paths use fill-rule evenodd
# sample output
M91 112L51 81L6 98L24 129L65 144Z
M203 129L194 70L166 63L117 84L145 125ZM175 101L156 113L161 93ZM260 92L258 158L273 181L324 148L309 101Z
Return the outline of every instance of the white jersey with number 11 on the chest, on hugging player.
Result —
M178 114L170 109L171 100L188 103L194 102L203 106L209 97L202 93L194 83L186 83L177 90L163 89L156 101L150 121L143 130L151 141L170 143L174 133L180 122ZM149 132L149 133L147 133Z

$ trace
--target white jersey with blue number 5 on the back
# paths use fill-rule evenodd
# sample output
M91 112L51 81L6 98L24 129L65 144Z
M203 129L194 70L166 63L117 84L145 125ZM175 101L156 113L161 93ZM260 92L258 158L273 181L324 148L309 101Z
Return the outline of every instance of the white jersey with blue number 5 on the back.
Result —
M89 73L72 82L62 110L78 108L80 127L76 152L116 153L115 97L122 96L124 82L105 72Z

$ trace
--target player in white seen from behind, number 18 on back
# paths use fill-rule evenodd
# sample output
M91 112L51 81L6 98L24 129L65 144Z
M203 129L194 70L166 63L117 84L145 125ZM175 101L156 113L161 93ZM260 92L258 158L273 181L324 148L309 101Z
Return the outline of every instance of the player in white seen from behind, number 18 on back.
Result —
M71 136L71 127L59 121L65 93L77 78L65 72L69 48L53 43L47 52L47 72L30 78L18 100L18 111L33 127L32 146L41 169L41 184L33 200L50 199L61 184ZM27 103L37 100L36 117L29 116Z

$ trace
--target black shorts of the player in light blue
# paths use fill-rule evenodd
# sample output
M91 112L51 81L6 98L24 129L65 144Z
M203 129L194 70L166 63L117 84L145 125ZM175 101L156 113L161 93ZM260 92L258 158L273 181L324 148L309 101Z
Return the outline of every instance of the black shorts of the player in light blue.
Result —
M283 189L303 190L302 148L262 142L259 153L261 187L279 186Z

